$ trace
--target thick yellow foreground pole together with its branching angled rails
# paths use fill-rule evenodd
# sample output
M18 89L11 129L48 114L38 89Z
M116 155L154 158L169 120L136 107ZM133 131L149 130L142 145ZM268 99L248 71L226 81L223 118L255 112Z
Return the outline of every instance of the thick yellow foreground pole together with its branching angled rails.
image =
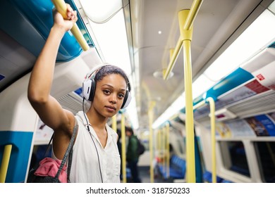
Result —
M181 31L181 37L178 39L176 49L169 62L164 80L167 79L173 65L175 64L178 52L183 46L184 60L184 85L185 85L185 111L186 111L186 177L187 182L195 182L195 141L194 141L194 117L193 117L193 94L192 94L192 64L191 64L191 40L193 36L193 21L202 5L202 0L195 0L190 10L178 12L178 22Z

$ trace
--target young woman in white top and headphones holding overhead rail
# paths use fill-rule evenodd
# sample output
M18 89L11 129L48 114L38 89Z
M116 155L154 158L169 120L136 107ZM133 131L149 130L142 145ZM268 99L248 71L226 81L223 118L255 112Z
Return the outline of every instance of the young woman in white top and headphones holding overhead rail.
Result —
M60 13L54 12L54 25L32 70L27 96L41 120L54 129L54 157L59 160L66 152L77 121L79 128L73 146L71 182L120 182L118 135L106 122L121 107L127 106L126 100L130 102L130 84L123 70L104 65L87 75L83 86L90 84L94 88L92 96L85 96L92 101L87 112L73 115L49 94L59 44L77 20L76 12L69 5L67 16L63 20Z

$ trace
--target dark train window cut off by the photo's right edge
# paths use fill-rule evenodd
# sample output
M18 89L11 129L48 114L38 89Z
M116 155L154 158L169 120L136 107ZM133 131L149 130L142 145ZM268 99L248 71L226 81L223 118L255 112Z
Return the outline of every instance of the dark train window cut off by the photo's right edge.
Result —
M275 182L275 142L254 142L262 179L267 183Z

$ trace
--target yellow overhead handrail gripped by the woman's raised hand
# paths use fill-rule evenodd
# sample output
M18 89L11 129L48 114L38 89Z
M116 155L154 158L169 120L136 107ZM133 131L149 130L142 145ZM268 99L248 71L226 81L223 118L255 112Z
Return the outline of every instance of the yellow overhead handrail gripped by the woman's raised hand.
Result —
M67 18L67 15L66 15L67 6L66 6L65 1L63 1L63 0L51 0L51 1L53 2L54 6L56 7L56 10L59 13L61 13L63 18ZM80 44L83 51L87 51L89 49L89 45L87 44L86 40L84 39L84 37L83 37L82 33L80 32L78 25L76 25L76 23L71 28L71 32L74 35L75 39Z

